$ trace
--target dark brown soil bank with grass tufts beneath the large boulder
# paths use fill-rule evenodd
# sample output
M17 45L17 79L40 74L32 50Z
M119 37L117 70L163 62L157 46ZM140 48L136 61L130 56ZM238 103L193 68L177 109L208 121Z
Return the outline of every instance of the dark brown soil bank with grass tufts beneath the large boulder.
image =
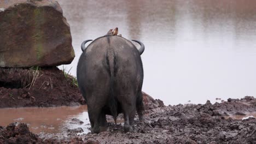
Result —
M0 68L0 108L85 104L75 82L56 67Z

